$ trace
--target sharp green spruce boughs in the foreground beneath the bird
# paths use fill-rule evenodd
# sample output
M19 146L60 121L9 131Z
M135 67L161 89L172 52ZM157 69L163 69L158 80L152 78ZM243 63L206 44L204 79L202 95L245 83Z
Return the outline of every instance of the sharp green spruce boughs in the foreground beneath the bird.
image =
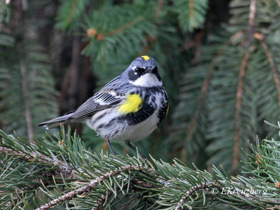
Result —
M279 127L276 126L279 130ZM274 128L275 129L275 128ZM270 209L279 207L279 137L229 176L139 156L92 153L71 131L35 140L0 131L1 209Z

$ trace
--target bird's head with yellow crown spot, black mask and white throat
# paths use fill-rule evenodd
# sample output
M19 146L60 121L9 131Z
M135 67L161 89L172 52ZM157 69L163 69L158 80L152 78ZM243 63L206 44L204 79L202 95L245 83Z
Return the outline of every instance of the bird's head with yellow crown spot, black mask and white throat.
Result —
M155 59L146 55L134 59L123 74L135 86L162 86Z

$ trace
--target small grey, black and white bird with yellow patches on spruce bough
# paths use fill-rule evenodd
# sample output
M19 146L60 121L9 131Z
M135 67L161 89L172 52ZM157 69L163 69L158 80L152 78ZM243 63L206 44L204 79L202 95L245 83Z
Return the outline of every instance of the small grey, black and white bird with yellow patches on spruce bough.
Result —
M131 142L149 136L166 117L168 96L154 58L135 58L117 77L86 100L76 111L38 126L47 129L68 122L82 122L106 140L124 141L135 153ZM141 157L141 153L138 153Z

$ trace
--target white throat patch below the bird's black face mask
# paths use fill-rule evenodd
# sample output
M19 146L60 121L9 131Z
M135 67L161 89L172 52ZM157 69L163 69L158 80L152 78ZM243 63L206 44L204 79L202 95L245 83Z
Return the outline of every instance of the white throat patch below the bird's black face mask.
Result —
M130 84L141 87L155 87L162 86L162 81L159 81L156 75L152 73L146 73L135 81L130 81Z

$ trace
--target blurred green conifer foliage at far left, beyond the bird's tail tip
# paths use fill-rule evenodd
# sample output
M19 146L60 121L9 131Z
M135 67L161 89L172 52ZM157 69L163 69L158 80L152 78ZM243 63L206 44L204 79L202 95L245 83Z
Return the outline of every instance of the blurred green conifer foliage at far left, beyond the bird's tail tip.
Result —
M1 1L0 12L0 119L2 128L29 141L43 130L36 124L57 115L54 80L48 57L34 35L34 17ZM18 10L17 10L18 9ZM16 14L15 14L16 13ZM23 18L23 16L25 17ZM10 16L19 18L9 25ZM11 20L12 21L12 20Z

